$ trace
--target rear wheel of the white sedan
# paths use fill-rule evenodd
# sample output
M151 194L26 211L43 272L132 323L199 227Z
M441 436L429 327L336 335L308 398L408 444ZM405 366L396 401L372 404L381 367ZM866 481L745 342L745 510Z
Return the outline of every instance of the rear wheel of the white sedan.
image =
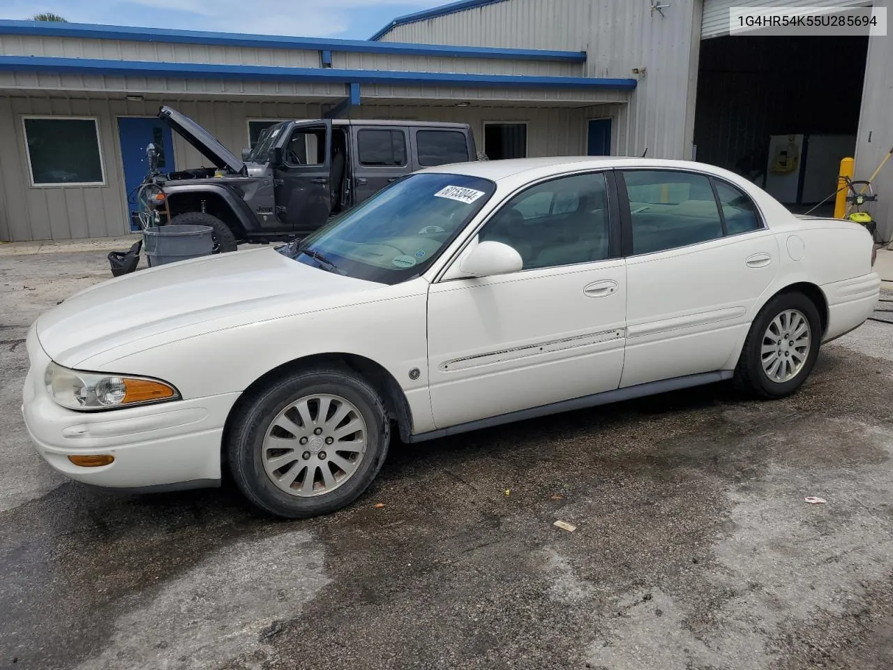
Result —
M794 338L773 340L776 331L785 330L786 315L788 327L794 324L793 332L778 334L793 335ZM806 344L803 335L798 334L804 322L808 328ZM800 388L812 372L821 340L822 319L809 297L799 292L781 293L773 297L756 315L747 333L733 377L735 386L762 398L789 396ZM790 346L792 341L796 346ZM767 349L765 352L764 346ZM776 356L772 356L773 353ZM771 375L776 360L780 364Z

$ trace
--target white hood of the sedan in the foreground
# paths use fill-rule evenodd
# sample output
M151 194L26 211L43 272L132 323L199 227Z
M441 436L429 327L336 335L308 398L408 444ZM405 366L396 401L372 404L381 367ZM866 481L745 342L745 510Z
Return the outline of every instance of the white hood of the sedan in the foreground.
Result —
M48 356L77 367L111 349L138 351L204 332L344 305L356 300L356 293L382 286L262 247L104 281L42 314L36 328Z

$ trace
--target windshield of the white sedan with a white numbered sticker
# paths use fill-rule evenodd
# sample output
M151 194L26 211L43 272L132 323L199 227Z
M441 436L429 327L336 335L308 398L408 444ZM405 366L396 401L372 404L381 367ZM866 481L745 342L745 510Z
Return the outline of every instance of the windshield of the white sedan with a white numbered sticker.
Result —
M357 279L407 281L434 262L495 189L478 177L411 174L280 251Z

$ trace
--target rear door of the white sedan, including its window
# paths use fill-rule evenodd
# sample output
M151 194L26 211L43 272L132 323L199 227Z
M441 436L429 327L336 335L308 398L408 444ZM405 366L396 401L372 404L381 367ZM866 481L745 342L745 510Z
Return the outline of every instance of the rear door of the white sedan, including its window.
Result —
M753 200L665 168L619 171L617 186L629 291L621 386L730 370L779 268Z

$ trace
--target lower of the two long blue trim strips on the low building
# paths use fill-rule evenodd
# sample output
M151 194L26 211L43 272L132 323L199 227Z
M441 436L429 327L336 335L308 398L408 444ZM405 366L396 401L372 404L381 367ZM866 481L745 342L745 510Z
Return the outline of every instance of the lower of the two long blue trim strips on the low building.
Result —
M213 80L304 80L341 84L391 84L405 86L457 86L465 88L612 88L632 90L633 79L596 77L539 77L505 74L455 74L391 70L339 70L338 68L290 68L271 65L163 63L111 61L97 58L0 55L0 71L51 72L111 76L174 77Z

